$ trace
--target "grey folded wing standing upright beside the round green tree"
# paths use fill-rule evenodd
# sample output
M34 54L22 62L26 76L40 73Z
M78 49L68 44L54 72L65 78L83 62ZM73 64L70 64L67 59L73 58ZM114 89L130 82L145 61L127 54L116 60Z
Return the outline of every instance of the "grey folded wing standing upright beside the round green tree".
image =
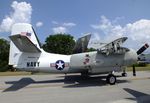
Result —
M82 53L87 50L87 46L89 44L89 40L91 38L91 34L88 34L84 37L81 37L77 40L75 47L73 49L73 53Z

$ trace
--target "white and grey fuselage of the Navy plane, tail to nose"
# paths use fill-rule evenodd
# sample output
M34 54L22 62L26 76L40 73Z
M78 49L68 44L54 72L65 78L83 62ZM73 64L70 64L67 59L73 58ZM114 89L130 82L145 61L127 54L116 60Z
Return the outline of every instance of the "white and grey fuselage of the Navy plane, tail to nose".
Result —
M22 53L18 55L16 68L23 71L52 72L52 73L107 73L121 71L125 66L137 62L137 54L130 50L124 54L106 55L86 52L73 55L58 55L47 52Z

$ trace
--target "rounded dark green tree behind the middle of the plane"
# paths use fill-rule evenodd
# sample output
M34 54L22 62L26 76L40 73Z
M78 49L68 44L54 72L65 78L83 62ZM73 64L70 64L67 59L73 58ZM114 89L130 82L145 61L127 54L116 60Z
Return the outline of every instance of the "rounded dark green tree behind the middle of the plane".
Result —
M50 53L72 54L75 41L69 34L55 34L46 38L43 49Z

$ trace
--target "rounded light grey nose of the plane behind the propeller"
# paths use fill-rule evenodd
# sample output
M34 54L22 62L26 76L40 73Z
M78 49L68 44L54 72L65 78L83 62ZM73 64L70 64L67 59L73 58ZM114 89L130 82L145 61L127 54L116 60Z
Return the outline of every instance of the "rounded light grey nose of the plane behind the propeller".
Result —
M137 55L136 51L134 51L133 49L130 49L130 51L125 53L124 65L130 66L132 64L137 63L137 58L138 58L138 55Z

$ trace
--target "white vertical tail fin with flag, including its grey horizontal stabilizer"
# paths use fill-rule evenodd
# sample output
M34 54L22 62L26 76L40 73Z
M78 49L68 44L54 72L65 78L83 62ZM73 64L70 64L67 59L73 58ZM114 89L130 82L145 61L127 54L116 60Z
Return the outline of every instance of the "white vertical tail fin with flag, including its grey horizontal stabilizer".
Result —
M32 25L27 23L14 24L11 31L9 65L16 65L23 52L40 52L40 43Z

